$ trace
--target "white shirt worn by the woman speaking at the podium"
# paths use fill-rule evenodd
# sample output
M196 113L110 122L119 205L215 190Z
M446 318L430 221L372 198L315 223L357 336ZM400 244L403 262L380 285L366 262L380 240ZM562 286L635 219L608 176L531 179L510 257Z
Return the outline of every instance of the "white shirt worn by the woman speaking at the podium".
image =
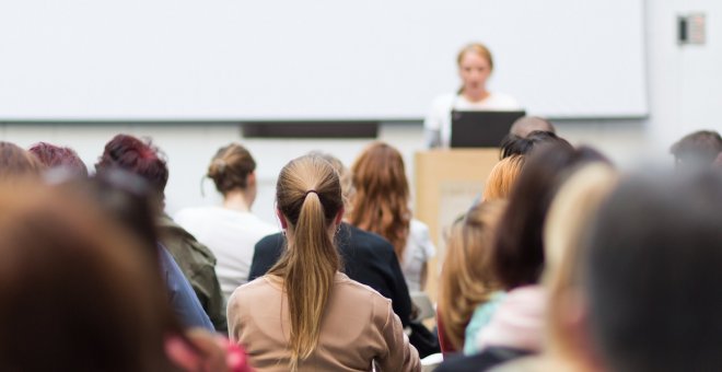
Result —
M457 111L521 111L522 107L512 96L503 93L489 93L479 101L470 102L463 94L444 94L431 104L431 112L423 121L427 146L449 148L451 141L451 112ZM439 141L441 143L439 144Z

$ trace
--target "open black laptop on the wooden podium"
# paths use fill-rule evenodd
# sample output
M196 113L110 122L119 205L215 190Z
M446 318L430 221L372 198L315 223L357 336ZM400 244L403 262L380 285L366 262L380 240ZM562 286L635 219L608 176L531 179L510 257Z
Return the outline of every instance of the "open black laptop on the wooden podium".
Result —
M526 112L452 112L451 148L498 148Z

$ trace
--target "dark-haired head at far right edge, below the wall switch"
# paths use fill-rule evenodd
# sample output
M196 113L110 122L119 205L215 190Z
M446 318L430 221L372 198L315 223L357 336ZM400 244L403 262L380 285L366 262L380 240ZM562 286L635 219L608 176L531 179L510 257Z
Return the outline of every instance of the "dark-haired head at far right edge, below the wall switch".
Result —
M722 152L722 137L713 130L699 130L675 142L669 152L677 167L708 167Z

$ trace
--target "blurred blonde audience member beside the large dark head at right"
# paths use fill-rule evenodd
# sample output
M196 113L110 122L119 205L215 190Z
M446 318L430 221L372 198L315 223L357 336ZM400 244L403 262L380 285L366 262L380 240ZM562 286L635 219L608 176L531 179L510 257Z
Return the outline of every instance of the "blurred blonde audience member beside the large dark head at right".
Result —
M544 229L544 286L548 293L544 352L502 364L494 372L590 370L582 311L575 300L580 295L578 261L582 235L617 179L612 167L594 163L574 172L557 193Z

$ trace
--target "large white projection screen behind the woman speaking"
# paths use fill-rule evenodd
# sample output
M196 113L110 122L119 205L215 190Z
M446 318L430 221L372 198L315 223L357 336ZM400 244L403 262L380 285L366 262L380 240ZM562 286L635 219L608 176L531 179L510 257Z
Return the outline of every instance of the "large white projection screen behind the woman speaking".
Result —
M0 120L417 120L458 88L643 117L643 0L0 1Z

